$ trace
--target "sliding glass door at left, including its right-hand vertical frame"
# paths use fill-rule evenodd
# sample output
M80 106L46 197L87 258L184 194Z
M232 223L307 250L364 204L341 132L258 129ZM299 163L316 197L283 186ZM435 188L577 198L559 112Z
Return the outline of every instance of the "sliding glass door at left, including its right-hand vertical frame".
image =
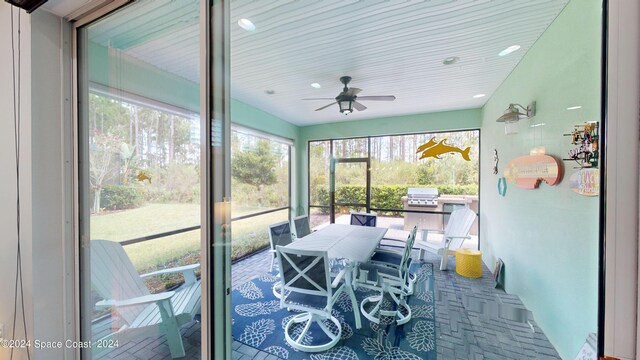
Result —
M76 24L85 359L230 351L228 47L209 35L225 5L141 0Z

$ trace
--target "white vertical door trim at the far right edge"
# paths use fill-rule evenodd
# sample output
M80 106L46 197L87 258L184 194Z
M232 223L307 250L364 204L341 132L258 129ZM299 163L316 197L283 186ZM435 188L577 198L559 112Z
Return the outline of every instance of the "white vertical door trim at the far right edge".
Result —
M606 8L608 2L608 9ZM608 13L604 355L636 359L638 333L638 160L640 3L604 1ZM608 12L607 12L608 10ZM602 211L602 209L601 209ZM601 214L602 215L602 214ZM602 224L601 224L602 225ZM604 321L604 324L602 324ZM604 327L602 327L604 325ZM602 346L602 344L600 345Z

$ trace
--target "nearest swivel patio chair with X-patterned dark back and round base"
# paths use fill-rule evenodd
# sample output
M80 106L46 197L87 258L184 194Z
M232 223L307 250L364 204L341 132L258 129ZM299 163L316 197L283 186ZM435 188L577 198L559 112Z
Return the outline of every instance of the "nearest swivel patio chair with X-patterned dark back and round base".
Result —
M345 272L340 272L331 281L326 251L290 249L283 246L276 249L284 294L280 298L280 307L303 311L293 316L285 325L287 343L294 349L305 352L319 352L332 348L342 335L340 321L331 311L335 301L345 291L346 285L340 284ZM351 302L354 308L358 306L355 297L351 297ZM325 321L330 321L332 326L328 326ZM305 335L314 323L328 337L328 342L319 345L303 343ZM294 332L292 337L290 330L295 324L304 325L302 331ZM318 334L315 328L313 332Z

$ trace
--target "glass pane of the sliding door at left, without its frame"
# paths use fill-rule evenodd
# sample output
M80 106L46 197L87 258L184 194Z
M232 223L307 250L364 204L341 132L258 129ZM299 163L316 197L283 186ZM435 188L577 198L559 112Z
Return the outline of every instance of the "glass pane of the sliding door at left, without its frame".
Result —
M84 355L200 358L198 2L139 1L78 34Z

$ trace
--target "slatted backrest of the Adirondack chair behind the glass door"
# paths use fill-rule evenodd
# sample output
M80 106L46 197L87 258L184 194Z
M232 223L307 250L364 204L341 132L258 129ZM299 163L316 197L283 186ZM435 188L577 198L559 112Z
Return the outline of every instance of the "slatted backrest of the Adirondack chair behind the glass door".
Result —
M150 294L120 243L91 240L90 247L91 285L103 299L126 300ZM124 307L118 313L131 324L146 306Z

